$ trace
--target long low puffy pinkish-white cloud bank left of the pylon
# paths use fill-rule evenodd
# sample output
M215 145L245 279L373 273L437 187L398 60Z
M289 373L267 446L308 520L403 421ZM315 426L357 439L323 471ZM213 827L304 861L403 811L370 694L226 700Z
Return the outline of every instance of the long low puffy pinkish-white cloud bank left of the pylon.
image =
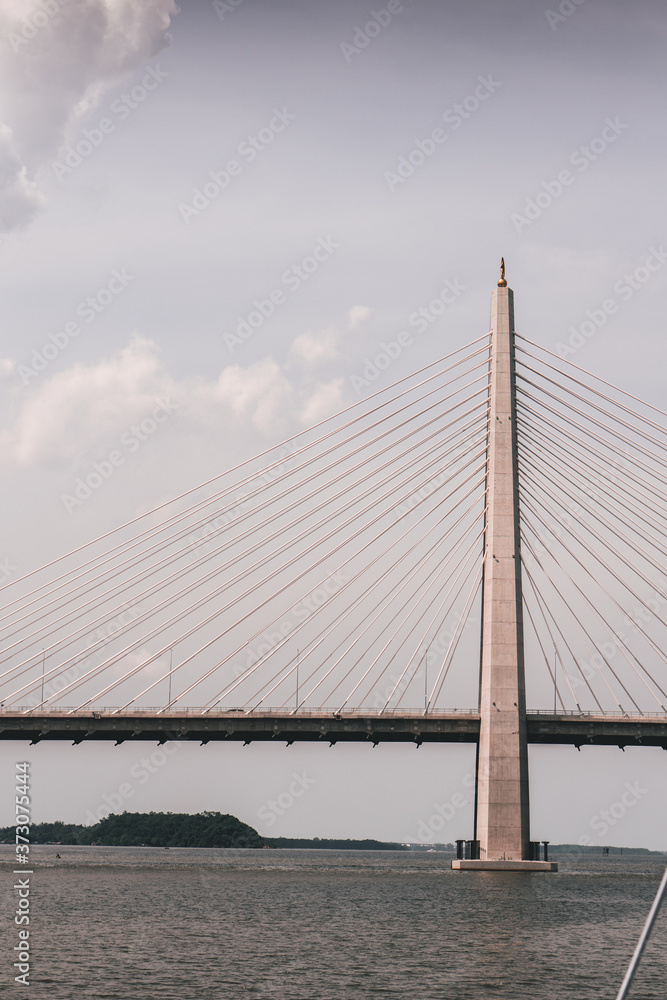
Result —
M0 360L0 376L14 368ZM212 380L178 380L157 345L137 335L111 357L17 388L10 425L0 430L0 465L69 467L88 451L113 447L158 400L173 404L187 440L219 447L232 433L263 442L287 437L341 409L344 395L344 379L313 383L270 357L228 365Z

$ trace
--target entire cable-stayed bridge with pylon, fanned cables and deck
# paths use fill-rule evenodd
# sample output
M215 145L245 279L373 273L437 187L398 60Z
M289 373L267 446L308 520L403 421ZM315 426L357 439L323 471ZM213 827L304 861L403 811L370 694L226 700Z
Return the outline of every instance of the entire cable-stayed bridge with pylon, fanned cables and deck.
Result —
M0 736L476 743L515 859L528 743L667 749L667 414L490 326L4 588Z

